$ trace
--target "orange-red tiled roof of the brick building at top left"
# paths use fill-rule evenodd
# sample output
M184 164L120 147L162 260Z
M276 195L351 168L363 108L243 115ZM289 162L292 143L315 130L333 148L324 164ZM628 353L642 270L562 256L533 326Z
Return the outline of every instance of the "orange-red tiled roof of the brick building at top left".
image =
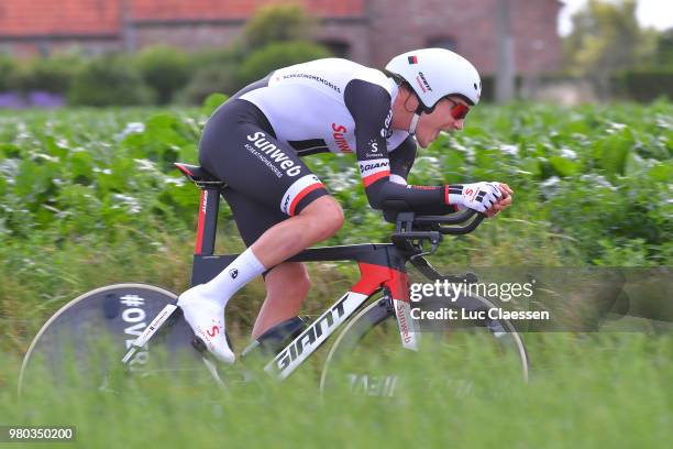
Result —
M0 36L108 35L120 32L123 8L135 21L246 19L278 0L2 0ZM364 15L364 0L298 0L321 18Z

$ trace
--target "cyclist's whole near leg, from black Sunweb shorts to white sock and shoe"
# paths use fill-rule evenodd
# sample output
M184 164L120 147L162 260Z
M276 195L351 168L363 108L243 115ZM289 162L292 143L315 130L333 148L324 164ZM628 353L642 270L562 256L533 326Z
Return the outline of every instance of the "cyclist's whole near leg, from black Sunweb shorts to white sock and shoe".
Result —
M225 362L234 359L224 339L223 321L224 307L233 294L265 270L332 236L343 223L341 207L295 151L275 139L261 111L244 100L229 105L213 114L203 131L201 165L224 180L231 193L274 213L279 210L287 219L265 230L213 280L178 299L197 336ZM240 229L246 228L241 228L239 217L236 222Z

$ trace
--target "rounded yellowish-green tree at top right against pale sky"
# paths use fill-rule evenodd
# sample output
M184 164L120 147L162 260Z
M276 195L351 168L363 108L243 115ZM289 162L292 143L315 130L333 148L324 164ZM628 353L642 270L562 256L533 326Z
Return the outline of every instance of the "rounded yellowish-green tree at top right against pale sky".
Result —
M592 79L606 97L610 74L631 68L643 57L646 34L636 18L636 0L589 0L572 22L573 31L564 40L566 67Z

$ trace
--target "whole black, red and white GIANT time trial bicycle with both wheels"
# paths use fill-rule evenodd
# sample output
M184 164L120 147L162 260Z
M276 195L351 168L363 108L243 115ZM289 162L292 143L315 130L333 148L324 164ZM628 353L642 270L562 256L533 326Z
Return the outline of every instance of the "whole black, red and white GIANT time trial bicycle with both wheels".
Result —
M228 187L199 166L175 165L201 190L190 282L194 286L213 278L238 256L214 254L220 196ZM236 365L246 370L254 365L255 371L284 380L343 327L324 358L322 391L345 387L352 393L394 396L405 380L401 371L390 366L401 365L380 363L380 358L412 363L419 359L408 355L426 353L432 360L453 357L460 363L461 358L468 357L465 348L474 348L474 341L492 347L495 365L510 363L520 379L528 380L529 359L515 326L507 319L490 318L489 314L475 314L496 308L493 302L478 295L410 300L408 264L432 283L477 282L472 273L442 275L424 256L438 250L444 236L474 231L484 216L470 209L446 216L419 216L405 211L405 205L390 204L385 217L395 223L390 243L313 248L289 259L355 262L361 277L312 322L295 317L265 332L242 352ZM137 283L109 285L77 297L56 311L32 341L21 368L20 392L31 382L31 366L36 359L46 362L56 376L64 371L66 360L80 370L96 365L96 373L87 374L98 386L107 384L120 359L132 375L207 371L217 383L227 386L223 372L229 368L217 363L199 344L176 303L173 292ZM413 309L466 310L481 318L423 320L415 318ZM118 357L101 359L101 346L92 344L96 341L111 342ZM159 357L159 352L167 357ZM378 357L375 363L373 353ZM442 374L448 383L455 383L451 370ZM457 381L464 386L464 379Z

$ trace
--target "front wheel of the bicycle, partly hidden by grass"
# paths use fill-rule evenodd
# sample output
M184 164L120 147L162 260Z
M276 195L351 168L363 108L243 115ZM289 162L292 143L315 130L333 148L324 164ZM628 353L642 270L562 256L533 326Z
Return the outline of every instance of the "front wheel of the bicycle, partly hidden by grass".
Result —
M473 310L495 307L476 296L461 298L457 304ZM457 306L433 299L412 307L438 313ZM475 388L497 391L512 381L528 380L523 340L507 320L422 319L416 325L420 331L418 350L405 349L390 300L384 297L368 305L330 349L321 390L366 396L461 395Z

